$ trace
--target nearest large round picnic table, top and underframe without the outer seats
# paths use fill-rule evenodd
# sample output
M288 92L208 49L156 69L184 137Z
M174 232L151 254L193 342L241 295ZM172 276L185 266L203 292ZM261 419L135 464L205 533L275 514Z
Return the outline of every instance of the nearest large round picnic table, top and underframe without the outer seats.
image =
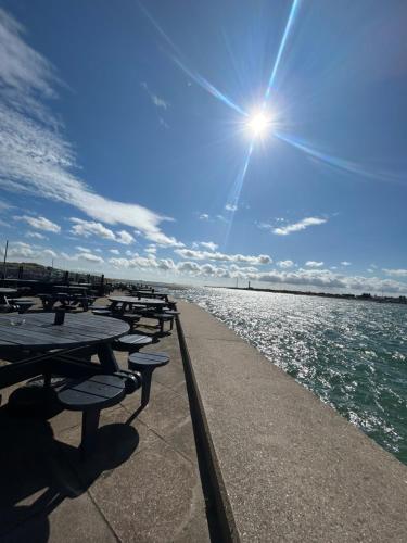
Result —
M80 366L96 372L118 371L111 343L129 331L123 320L84 314L66 314L64 324L54 325L53 313L0 315L0 357L2 353L28 351L21 362L0 367L0 389L35 377L48 369L74 371ZM75 351L92 348L100 364L75 358ZM58 371L56 371L58 372Z

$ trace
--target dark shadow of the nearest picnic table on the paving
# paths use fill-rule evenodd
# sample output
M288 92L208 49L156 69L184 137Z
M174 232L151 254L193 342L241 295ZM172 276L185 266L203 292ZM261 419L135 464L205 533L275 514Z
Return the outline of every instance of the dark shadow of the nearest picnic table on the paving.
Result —
M77 434L80 439L80 429L74 433L71 429L66 434L74 441ZM94 454L82 459L77 446L54 438L43 414L22 416L8 405L0 408L0 435L2 543L48 541L51 513L64 501L84 494L103 472L126 462L139 444L133 427L109 424L98 430Z

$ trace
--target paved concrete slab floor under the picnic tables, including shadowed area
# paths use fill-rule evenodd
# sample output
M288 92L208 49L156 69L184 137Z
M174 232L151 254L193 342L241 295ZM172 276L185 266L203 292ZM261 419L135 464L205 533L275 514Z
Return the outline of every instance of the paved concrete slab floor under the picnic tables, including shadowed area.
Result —
M104 409L86 462L80 413L17 416L7 404L21 384L0 391L1 543L209 541L176 330L145 351L170 356L153 375L149 406L133 416L139 390ZM127 354L117 358L126 368Z

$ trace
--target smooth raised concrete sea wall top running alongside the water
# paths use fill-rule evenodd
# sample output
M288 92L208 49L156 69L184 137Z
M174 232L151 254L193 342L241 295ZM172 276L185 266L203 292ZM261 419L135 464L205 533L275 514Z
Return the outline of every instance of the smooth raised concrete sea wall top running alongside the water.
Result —
M406 542L407 467L208 313L178 307L225 538Z

